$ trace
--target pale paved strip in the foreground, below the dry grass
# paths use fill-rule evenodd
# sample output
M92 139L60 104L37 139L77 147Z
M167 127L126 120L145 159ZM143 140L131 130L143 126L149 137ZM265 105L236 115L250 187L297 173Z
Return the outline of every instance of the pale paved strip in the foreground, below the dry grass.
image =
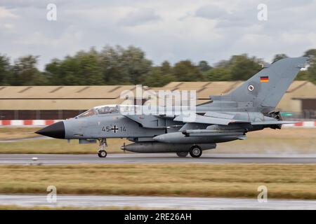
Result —
M210 197L150 197L57 195L49 203L46 195L0 195L0 205L20 207L140 207L147 209L316 209L316 200L269 200Z

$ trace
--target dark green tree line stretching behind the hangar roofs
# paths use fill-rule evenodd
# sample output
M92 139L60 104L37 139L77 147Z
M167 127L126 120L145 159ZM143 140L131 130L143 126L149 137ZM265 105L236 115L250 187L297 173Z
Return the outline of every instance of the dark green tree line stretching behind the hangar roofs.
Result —
M312 56L307 71L300 71L296 80L316 83L316 49L303 56ZM288 57L275 55L273 62ZM91 48L64 59L52 59L44 71L37 69L39 56L27 55L15 59L13 64L6 55L0 55L0 85L135 85L162 87L172 81L226 81L246 80L262 69L265 63L258 57L233 55L211 66L206 61L197 64L182 60L168 61L154 66L140 48L119 45L105 46L103 50Z

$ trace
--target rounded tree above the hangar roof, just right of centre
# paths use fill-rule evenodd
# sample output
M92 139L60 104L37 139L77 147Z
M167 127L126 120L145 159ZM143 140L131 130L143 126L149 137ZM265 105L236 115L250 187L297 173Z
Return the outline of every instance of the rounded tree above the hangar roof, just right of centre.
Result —
M190 60L180 61L173 67L173 76L182 82L202 81L204 76Z

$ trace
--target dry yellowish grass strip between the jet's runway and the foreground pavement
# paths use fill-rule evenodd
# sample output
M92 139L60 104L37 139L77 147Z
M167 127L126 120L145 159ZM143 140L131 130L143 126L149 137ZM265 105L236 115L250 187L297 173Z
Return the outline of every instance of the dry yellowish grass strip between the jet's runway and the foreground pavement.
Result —
M316 165L0 166L0 193L316 199Z

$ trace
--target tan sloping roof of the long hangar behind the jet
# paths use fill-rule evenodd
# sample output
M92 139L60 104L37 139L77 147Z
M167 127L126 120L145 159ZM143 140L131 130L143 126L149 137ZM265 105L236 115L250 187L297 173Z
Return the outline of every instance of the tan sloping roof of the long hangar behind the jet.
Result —
M196 90L197 103L209 100L209 95L226 94L242 81L172 82L164 87L143 87L143 90ZM74 86L0 86L0 110L8 109L89 109L102 104L121 104L128 94L136 97L135 85L74 85ZM316 85L309 81L294 81L283 97L316 99Z

